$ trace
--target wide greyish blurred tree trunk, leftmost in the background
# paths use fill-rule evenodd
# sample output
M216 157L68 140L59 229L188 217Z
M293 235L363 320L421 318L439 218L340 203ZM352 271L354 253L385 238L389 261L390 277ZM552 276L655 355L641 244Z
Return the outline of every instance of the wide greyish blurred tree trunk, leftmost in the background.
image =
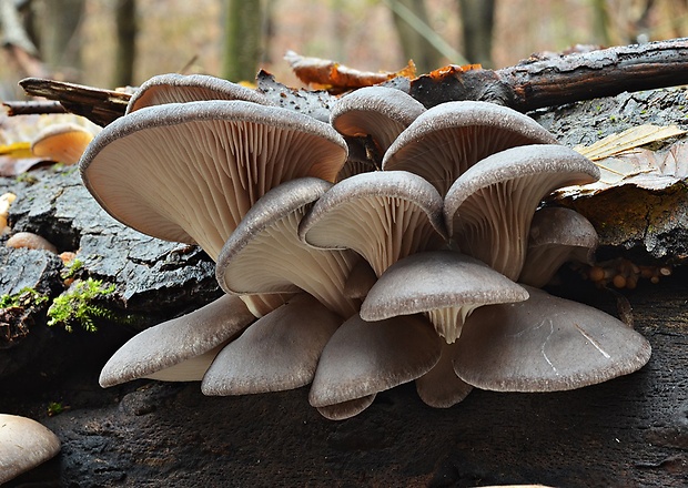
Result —
M85 0L42 0L37 6L39 51L53 78L81 75L79 27Z

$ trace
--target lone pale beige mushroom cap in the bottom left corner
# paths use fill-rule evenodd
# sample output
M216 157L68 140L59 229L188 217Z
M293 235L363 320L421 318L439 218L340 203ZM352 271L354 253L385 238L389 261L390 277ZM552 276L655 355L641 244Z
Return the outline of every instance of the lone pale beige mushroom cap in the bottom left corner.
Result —
M0 414L0 485L51 459L60 439L27 417Z

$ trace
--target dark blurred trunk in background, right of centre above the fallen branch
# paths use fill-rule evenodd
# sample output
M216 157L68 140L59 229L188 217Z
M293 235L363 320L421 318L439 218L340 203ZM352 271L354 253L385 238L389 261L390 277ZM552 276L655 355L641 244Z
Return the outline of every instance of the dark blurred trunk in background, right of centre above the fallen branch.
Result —
M495 0L458 0L458 6L464 32L464 55L471 63L493 68Z

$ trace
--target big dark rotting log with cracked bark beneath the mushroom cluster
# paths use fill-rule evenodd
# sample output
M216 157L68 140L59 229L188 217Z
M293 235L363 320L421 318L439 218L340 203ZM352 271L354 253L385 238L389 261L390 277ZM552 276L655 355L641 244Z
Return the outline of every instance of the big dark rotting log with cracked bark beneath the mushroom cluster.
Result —
M624 94L537 119L567 144L593 142L643 121L684 123L684 90ZM32 185L0 181L0 192L20 196L13 230L43 233L60 251L80 248L84 275L118 284L111 306L160 322L216 296L212 264L198 250L124 230L89 199L74 171L32 174ZM676 205L685 210L686 199ZM676 232L687 228L685 220L675 224ZM643 238L631 241L651 254ZM17 264L21 258L26 264ZM63 289L60 265L45 253L3 250L0 264L0 294L20 281L49 283L52 296ZM616 294L571 276L563 283L553 292L617 313ZM476 390L446 410L424 406L406 385L341 423L311 408L306 388L208 398L198 384L140 380L103 390L100 368L135 331L102 323L95 334L70 335L47 328L39 313L32 333L10 349L23 363L0 379L0 411L41 420L62 451L8 486L686 486L688 270L658 285L641 282L625 299L654 348L636 374L557 394ZM70 408L48 417L50 401Z

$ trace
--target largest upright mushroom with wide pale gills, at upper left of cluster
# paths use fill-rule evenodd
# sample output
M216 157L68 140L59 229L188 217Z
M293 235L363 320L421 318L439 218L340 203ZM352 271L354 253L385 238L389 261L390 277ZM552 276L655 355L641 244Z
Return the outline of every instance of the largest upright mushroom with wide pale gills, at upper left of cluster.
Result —
M114 218L216 258L247 210L301 176L333 181L346 143L328 124L243 101L171 103L108 125L80 166Z

